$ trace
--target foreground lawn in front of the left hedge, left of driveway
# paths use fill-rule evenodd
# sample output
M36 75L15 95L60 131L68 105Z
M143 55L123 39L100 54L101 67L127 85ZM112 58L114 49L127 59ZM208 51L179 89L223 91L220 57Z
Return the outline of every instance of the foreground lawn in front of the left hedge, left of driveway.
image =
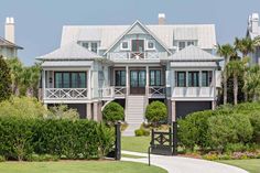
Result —
M148 164L116 161L2 162L1 173L166 173Z

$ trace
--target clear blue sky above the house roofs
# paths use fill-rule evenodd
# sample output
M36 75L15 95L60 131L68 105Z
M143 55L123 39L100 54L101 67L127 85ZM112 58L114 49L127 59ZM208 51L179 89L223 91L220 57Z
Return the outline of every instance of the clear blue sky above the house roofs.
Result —
M171 24L216 24L217 42L232 43L247 31L248 15L260 13L260 0L1 0L0 35L7 17L15 20L19 57L32 65L35 57L57 48L67 24L156 24L165 13Z

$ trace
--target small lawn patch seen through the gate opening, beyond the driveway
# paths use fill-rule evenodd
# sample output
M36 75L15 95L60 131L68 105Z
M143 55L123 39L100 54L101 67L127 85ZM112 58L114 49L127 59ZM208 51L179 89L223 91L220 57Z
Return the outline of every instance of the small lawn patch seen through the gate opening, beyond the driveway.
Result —
M122 150L147 153L151 137L122 137Z

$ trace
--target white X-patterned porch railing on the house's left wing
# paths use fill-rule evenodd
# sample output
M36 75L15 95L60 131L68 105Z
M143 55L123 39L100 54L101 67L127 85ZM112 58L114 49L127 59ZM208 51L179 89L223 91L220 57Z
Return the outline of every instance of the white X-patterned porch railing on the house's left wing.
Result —
M45 88L45 99L86 99L87 88Z

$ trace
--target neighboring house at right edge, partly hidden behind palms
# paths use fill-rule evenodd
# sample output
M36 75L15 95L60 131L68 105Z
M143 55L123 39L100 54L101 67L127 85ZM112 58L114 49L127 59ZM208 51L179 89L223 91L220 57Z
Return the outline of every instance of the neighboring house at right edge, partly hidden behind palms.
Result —
M251 40L260 36L259 14L252 13L248 19L247 36ZM251 64L260 64L260 46L256 47L254 53L251 53Z

